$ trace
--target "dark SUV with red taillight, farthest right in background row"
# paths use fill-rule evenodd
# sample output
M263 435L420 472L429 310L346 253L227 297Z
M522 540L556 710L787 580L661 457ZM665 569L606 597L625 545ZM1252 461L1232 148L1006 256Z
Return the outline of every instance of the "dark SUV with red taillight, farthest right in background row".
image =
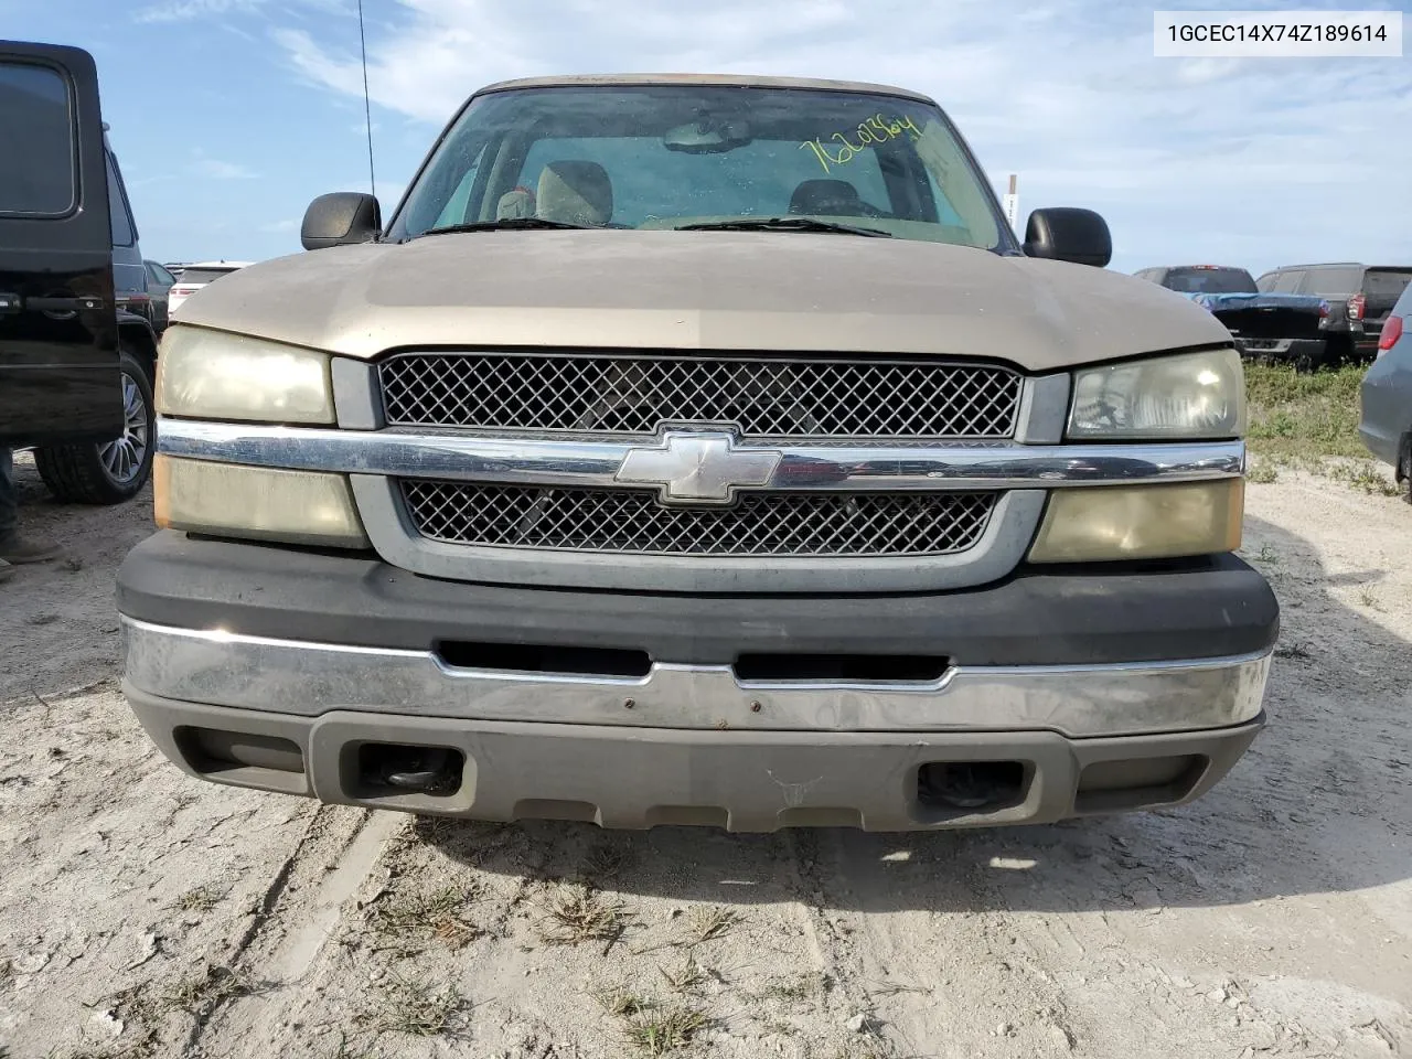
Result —
M1271 294L1316 294L1329 302L1329 354L1341 360L1372 360L1382 322L1412 280L1412 265L1365 265L1356 261L1284 265L1255 285Z

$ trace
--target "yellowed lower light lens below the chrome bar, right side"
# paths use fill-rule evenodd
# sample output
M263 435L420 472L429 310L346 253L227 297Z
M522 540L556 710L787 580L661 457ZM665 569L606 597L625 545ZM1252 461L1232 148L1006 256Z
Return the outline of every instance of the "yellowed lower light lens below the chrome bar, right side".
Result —
M1175 486L1058 489L1031 562L1211 555L1240 548L1244 479Z

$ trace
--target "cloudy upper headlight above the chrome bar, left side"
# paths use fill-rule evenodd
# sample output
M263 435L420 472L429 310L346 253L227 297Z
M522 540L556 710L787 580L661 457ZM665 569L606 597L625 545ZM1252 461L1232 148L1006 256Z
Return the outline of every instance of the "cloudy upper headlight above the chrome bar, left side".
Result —
M332 424L329 357L174 325L157 357L157 411L199 419Z

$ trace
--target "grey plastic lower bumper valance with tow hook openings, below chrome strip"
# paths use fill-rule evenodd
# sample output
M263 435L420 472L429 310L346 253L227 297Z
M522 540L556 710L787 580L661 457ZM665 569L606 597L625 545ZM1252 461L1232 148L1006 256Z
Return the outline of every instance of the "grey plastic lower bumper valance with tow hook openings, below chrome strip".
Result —
M702 731L357 710L295 717L172 702L131 686L127 696L158 747L203 779L481 820L736 832L1048 823L1176 805L1226 775L1264 722L1070 740L1052 731ZM408 794L370 779L364 755L387 746L459 751L455 788ZM939 803L923 770L942 762L1004 762L1015 782L979 808Z

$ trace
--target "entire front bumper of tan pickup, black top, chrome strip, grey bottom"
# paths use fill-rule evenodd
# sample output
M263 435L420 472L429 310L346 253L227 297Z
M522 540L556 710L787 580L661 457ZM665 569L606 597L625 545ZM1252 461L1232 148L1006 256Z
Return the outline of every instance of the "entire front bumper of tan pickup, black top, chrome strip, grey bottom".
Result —
M741 599L467 585L172 532L128 556L119 606L128 699L203 778L477 819L733 830L1187 801L1260 729L1278 628L1269 587L1234 556L964 593ZM489 661L448 661L455 642L489 644ZM647 662L528 672L498 668L496 644ZM741 675L740 655L771 652L945 661L915 681ZM455 782L380 785L370 761L388 747L457 751ZM938 803L928 774L963 762L1014 782L983 806Z

